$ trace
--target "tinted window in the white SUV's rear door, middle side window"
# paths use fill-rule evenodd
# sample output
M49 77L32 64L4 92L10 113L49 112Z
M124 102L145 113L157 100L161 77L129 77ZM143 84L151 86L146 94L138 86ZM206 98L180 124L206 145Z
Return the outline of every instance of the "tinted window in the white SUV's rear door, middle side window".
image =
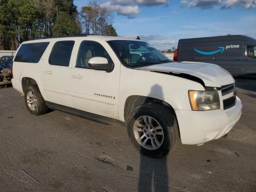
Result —
M69 66L74 41L58 41L54 44L49 58L50 65Z

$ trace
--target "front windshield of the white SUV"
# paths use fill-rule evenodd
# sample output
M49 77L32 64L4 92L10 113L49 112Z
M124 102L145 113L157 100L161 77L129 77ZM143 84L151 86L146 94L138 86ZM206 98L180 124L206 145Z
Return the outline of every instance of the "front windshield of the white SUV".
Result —
M113 40L109 41L122 62L132 68L171 62L159 50L142 41Z

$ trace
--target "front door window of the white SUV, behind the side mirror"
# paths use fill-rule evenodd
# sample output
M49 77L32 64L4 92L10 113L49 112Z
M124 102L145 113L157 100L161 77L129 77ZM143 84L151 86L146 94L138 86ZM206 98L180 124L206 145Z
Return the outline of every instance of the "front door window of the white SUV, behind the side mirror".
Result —
M88 64L90 58L93 57L104 57L108 60L108 62L112 62L107 51L100 43L94 41L83 41L78 51L76 67L93 69Z

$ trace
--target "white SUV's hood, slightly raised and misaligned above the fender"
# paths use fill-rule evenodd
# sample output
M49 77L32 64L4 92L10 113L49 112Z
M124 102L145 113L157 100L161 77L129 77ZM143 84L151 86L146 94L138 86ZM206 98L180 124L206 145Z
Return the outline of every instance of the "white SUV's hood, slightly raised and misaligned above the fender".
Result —
M235 82L232 75L216 64L197 62L170 62L136 68L157 72L174 72L200 78L207 87L221 87Z

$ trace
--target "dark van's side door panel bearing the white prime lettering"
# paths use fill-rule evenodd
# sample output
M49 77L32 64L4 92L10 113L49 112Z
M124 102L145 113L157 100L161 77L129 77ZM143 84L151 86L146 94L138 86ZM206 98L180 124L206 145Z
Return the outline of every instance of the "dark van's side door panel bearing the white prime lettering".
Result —
M223 47L223 52L216 54L216 64L231 74L241 74L244 58L242 56L243 44L241 41L218 41L216 47Z

